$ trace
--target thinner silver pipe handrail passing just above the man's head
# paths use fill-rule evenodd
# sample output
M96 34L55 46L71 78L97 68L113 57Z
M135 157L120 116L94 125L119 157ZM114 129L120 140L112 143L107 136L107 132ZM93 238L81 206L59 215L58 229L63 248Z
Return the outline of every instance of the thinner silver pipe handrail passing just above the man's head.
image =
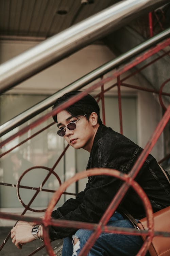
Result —
M61 97L63 94L67 93L71 90L79 90L85 85L89 84L90 82L94 81L95 79L101 77L101 75L106 74L107 72L113 70L114 68L118 67L120 64L124 63L128 59L136 56L137 54L141 53L145 49L148 49L152 45L158 43L160 40L165 39L170 35L170 29L165 30L164 32L155 35L151 39L147 40L136 46L135 48L131 49L130 51L126 52L125 54L120 55L119 57L115 58L112 61L105 63L104 65L100 66L99 68L89 72L85 76L81 77L77 81L69 84L68 86L64 87L63 89L57 91L55 94L51 95L50 97L46 98L45 100L39 102L38 104L32 106L30 109L20 113L19 115L15 116L11 120L8 120L4 124L0 126L0 136L3 136L8 131L11 131L15 127L20 124L23 124L27 120L31 119L35 115L43 112L45 109L49 108L53 105L54 101Z

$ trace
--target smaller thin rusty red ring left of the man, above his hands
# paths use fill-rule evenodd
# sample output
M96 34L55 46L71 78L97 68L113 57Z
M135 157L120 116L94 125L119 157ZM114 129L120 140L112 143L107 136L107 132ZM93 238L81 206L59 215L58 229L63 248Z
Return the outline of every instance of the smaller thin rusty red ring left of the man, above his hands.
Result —
M18 196L18 199L19 199L20 203L23 205L23 207L27 208L27 210L30 210L30 211L32 211L32 212L45 212L47 209L35 210L35 209L32 209L32 208L28 207L28 205L26 205L26 204L22 201L22 199L21 199L21 197L20 197L20 194L19 194L20 182L21 182L23 176L24 176L27 172L29 172L29 171L31 171L31 170L33 170L33 169L45 169L45 170L47 170L47 171L49 171L49 172L51 171L50 168L45 167L45 166L31 167L31 168L27 169L26 171L24 171L24 172L21 174L21 176L19 177L19 180L18 180L17 185L16 185L17 196ZM58 175L57 175L53 170L51 171L51 174L54 174L54 175L55 175L55 177L56 177L57 180L58 180L59 185L61 186L62 183L61 183L61 180L60 180L60 178L58 177ZM39 191L40 191L40 187L39 187L39 189L38 189L37 194L39 193ZM31 199L31 200L32 200L32 199Z

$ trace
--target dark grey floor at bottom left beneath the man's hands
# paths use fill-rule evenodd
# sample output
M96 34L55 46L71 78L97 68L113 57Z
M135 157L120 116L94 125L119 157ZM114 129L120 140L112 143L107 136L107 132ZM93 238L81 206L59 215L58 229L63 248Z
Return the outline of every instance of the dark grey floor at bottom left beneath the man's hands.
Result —
M4 239L6 238L7 234L10 232L10 227L0 227L0 246L2 245ZM0 256L27 256L35 251L38 247L40 247L42 243L39 240L35 240L32 243L25 244L22 247L22 250L17 249L17 247L12 243L11 237L3 246L2 250L0 251ZM62 240L56 240L51 243L52 247L54 248L54 252L57 256L61 256L61 248L62 248ZM34 254L35 256L47 256L46 249L43 248L42 250L38 251Z

